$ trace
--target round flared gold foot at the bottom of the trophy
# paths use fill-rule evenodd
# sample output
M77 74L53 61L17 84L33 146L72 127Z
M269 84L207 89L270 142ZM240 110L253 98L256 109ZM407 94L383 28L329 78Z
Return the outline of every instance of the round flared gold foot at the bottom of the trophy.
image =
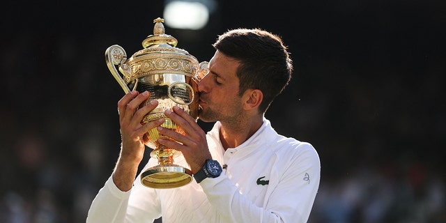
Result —
M181 187L190 182L192 171L176 164L160 164L141 174L141 183L156 189Z

